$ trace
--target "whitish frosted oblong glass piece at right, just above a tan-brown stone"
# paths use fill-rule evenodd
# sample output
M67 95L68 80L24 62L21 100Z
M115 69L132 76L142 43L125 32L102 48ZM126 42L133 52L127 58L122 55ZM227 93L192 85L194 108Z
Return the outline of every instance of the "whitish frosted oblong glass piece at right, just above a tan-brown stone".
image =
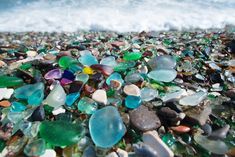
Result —
M206 92L200 91L197 93L194 93L192 95L183 97L179 100L179 103L181 105L185 105L185 106L196 106L198 105L200 102L202 102L207 96Z

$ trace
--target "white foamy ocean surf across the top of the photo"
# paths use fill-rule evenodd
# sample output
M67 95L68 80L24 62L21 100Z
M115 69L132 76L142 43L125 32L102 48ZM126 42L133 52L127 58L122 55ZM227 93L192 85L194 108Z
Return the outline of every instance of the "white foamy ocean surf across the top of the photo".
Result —
M0 0L0 31L161 31L235 25L235 0Z

